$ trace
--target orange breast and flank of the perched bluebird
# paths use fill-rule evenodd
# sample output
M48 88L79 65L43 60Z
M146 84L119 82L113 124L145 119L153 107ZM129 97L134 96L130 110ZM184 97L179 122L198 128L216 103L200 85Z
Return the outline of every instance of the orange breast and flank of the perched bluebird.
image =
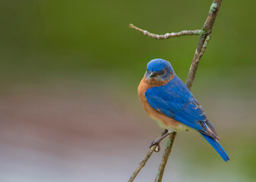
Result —
M172 128L174 130L180 130L181 127L183 127L183 124L174 120L173 118L170 118L166 115L163 115L161 112L152 108L151 105L149 105L149 102L147 101L147 99L145 97L145 93L146 93L147 89L150 89L154 86L162 86L163 84L165 84L167 82L162 82L162 83L159 83L159 82L152 83L152 82L150 82L149 83L149 81L146 80L145 77L143 77L142 80L139 83L139 86L138 86L139 99L140 99L140 102L142 102L142 105L145 108L148 115L151 118L154 118L155 120L159 121L161 123L162 127L165 127L166 129Z

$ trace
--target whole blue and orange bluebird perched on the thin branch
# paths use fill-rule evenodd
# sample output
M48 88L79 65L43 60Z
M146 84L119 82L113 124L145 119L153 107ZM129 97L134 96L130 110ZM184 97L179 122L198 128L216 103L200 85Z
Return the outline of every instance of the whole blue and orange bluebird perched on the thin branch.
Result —
M229 161L219 136L210 123L201 105L182 80L174 74L168 61L153 59L138 87L139 99L148 115L158 125L168 130L165 136L155 140L155 145L168 134L178 130L194 130L200 133L224 161Z

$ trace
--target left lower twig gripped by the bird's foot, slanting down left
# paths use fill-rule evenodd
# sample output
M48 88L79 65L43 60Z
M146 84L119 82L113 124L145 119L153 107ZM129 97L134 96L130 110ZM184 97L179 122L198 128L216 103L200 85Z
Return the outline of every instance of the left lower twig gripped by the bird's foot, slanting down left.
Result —
M165 135L165 133L167 132L168 130L163 130L161 136ZM155 151L156 148L157 148L157 145L154 145L149 149L149 152L147 152L146 156L142 159L141 162L139 162L138 167L133 172L133 175L130 177L128 182L132 182L135 179L135 177L139 174L139 171L146 165L146 162L149 160L150 156L152 155L152 153Z

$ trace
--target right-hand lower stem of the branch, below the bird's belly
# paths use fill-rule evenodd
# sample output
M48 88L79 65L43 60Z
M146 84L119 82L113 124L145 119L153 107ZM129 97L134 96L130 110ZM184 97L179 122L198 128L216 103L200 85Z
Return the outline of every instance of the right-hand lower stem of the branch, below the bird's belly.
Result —
M158 173L156 174L156 177L155 177L155 182L162 181L162 177L163 177L164 172L165 172L165 165L168 161L169 155L171 154L171 149L172 149L172 146L173 146L174 139L175 139L176 135L177 135L177 133L173 132L168 137L168 140L167 140L166 146L165 146L165 153L162 156L162 161L159 165Z

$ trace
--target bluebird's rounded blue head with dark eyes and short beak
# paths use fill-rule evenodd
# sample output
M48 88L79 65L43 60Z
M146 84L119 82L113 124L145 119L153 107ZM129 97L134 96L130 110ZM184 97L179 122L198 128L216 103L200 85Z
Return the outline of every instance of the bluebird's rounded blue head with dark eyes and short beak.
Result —
M146 80L166 82L174 77L174 70L168 61L157 58L149 61L145 74Z

